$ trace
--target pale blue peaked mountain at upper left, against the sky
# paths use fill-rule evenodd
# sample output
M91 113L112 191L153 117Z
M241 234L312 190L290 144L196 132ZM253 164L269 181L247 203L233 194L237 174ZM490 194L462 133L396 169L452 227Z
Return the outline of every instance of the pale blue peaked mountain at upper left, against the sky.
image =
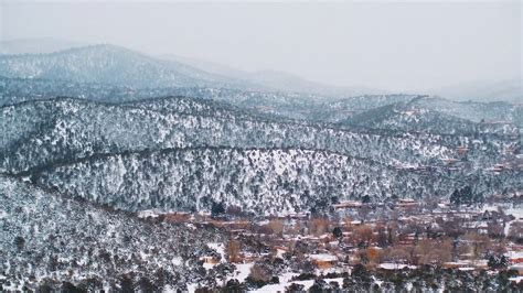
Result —
M248 87L228 77L157 59L115 45L76 47L50 54L0 56L0 75L143 87ZM254 85L253 85L254 86Z

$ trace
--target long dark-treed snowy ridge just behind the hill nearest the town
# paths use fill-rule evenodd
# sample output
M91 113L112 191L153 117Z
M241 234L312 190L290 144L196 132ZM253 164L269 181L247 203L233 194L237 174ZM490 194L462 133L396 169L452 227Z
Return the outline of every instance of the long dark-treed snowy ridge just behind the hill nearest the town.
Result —
M188 146L293 148L370 159L386 165L441 165L470 148L468 161L491 165L516 142L397 131L343 130L329 124L269 119L195 99L136 104L52 99L0 108L0 167L20 173L96 153ZM482 138L481 135L479 138Z

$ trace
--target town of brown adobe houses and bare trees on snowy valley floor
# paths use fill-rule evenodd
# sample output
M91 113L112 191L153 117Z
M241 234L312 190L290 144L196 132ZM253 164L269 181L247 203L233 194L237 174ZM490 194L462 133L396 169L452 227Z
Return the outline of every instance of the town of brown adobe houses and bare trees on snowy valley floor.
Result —
M481 206L436 199L346 200L332 204L329 215L249 217L238 207L217 206L207 214L145 211L140 216L226 231L228 241L209 243L209 253L201 259L207 270L224 270L222 280L215 280L223 287L350 289L344 278L354 270L371 275L429 265L471 275L503 273L521 290L523 196L508 199L492 196ZM386 287L383 280L375 283ZM206 292L200 285L190 289Z

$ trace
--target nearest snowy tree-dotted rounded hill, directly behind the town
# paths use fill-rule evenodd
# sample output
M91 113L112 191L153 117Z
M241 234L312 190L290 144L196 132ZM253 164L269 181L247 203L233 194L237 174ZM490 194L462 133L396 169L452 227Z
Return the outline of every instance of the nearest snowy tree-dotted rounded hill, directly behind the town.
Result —
M339 200L479 196L522 188L517 172L498 176L407 172L370 160L296 149L188 148L104 155L26 174L31 181L127 210L210 211L213 204L254 215L328 211Z

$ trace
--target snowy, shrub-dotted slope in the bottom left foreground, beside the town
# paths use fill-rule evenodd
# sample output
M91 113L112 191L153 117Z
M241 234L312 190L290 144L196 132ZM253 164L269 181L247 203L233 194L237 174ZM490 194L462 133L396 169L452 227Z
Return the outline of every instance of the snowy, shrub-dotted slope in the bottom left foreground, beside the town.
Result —
M0 291L117 289L125 282L185 290L206 272L199 256L217 230L138 219L0 176ZM181 261L180 261L181 260Z

